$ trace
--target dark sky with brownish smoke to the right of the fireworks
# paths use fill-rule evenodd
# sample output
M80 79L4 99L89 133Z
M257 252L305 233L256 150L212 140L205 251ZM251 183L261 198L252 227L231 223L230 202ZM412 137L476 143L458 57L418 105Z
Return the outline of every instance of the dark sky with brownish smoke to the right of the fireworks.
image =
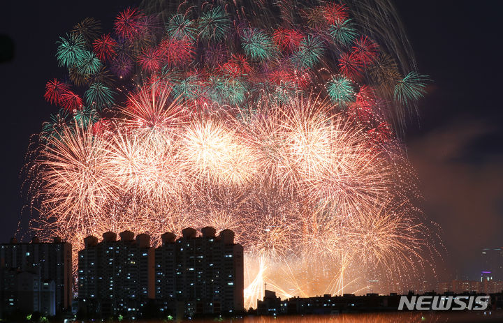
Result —
M407 128L423 209L442 227L449 272L473 278L481 248L503 246L503 3L396 2L433 80L419 125Z

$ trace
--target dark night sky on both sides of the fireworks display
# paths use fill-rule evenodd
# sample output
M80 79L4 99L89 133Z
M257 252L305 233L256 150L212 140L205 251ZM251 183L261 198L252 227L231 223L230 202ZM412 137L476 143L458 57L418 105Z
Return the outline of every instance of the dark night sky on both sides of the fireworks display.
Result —
M0 33L15 58L0 64L3 122L0 241L15 234L29 138L54 107L44 85L63 77L54 58L59 36L90 16L109 30L115 14L135 1L6 1ZM7 8L5 8L7 6ZM503 106L501 1L397 1L421 73L433 82L406 130L428 218L442 227L447 272L479 270L483 247L503 246ZM440 248L444 253L444 249ZM442 270L441 270L442 271Z

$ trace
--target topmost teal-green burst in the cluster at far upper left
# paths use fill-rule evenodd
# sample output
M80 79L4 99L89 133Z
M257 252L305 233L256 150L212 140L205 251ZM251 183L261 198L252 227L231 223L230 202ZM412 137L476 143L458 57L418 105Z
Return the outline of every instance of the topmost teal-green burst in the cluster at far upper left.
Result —
M58 65L72 68L85 57L87 52L85 39L80 33L66 34L66 38L59 37L59 39L56 52Z

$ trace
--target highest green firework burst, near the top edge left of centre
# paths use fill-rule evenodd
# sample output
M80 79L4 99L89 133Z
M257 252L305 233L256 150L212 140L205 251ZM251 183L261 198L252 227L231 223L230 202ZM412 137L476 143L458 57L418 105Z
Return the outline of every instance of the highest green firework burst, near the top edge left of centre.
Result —
M207 10L199 18L198 36L203 40L219 41L231 29L231 19L224 9L215 7Z

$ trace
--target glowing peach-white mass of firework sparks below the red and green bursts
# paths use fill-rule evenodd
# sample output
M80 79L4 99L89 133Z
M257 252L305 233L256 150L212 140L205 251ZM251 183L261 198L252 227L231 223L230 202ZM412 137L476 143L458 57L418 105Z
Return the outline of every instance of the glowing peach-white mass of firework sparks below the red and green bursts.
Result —
M347 268L421 260L423 225L407 200L394 201L393 152L372 149L358 124L328 114L330 103L292 100L242 123L178 117L187 107L157 90L132 94L99 135L65 126L44 145L34 164L43 234L80 249L108 230L150 232L159 244L189 225L230 228L249 266L258 262L247 306L263 283L282 296L360 290Z

